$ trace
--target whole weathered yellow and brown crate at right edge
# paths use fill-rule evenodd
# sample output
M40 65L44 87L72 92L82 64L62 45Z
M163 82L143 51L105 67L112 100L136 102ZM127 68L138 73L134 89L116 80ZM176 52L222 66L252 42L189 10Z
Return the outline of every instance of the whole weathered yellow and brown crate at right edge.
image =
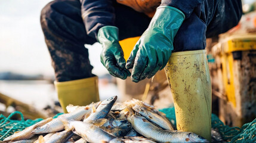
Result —
M217 64L219 117L229 126L256 118L256 34L220 38L212 48Z

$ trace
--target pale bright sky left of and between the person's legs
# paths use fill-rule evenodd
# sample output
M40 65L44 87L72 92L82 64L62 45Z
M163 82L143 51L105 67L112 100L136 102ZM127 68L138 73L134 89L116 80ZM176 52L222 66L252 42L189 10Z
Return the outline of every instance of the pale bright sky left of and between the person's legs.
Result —
M40 25L40 13L49 0L0 0L0 72L54 74ZM101 45L89 47L92 73L108 73L100 63Z

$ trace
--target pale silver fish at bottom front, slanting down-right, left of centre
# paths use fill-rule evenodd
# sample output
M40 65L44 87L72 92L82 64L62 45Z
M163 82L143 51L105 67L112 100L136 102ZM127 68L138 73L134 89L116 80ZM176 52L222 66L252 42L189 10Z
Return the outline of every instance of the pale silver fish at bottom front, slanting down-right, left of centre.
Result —
M109 142L116 138L110 133L107 133L98 126L92 125L91 123L74 121L74 120L62 120L66 130L75 130L75 133L84 138L88 142Z

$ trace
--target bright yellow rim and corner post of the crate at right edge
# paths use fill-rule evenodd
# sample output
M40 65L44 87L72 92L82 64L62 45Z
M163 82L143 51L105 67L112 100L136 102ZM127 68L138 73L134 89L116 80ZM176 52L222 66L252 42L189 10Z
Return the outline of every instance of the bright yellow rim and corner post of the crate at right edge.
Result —
M215 54L221 58L227 100L232 102L235 107L234 61L240 58L240 52L250 50L256 50L256 35L229 36L214 47Z

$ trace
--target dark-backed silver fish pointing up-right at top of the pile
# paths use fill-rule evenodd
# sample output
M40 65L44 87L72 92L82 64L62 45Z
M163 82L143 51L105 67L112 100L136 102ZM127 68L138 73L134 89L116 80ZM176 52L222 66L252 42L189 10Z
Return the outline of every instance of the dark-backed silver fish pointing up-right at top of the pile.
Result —
M111 110L113 104L116 102L117 98L118 96L113 96L108 98L107 100L102 101L101 104L98 105L98 108L93 111L93 113L91 113L91 115L87 119L85 119L84 122L91 122L106 117Z

